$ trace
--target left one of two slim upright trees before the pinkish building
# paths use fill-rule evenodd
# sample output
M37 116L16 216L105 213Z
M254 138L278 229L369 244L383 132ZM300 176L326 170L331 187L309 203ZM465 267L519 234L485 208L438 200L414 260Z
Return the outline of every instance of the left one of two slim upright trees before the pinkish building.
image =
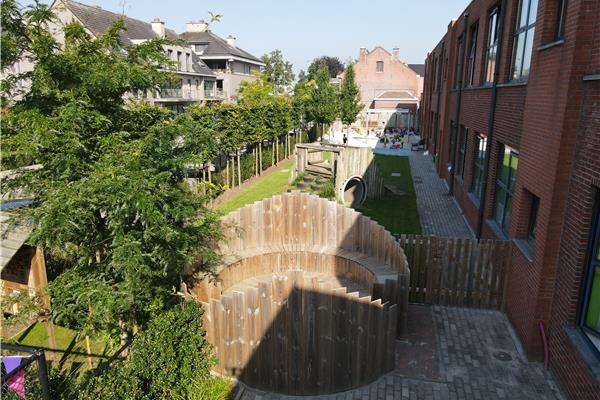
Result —
M310 115L321 125L321 138L327 125L335 121L338 115L338 89L329 82L329 71L326 65L321 65L317 71L316 87L312 91Z

